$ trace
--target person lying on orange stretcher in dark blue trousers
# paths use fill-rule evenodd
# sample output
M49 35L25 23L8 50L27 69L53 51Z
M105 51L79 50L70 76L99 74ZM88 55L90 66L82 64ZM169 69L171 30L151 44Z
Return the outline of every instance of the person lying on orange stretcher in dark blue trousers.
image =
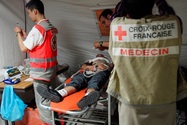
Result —
M73 76L71 82L63 89L53 90L40 86L37 91L42 97L52 102L60 102L63 97L87 87L85 96L77 103L77 106L83 109L97 102L100 97L99 91L109 79L112 68L113 63L110 63L104 55L98 54L96 58L82 64L80 70L82 72Z

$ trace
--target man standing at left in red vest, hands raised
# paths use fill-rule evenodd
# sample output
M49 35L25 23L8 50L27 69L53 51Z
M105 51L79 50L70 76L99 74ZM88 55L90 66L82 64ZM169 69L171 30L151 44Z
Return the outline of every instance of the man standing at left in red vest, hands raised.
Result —
M21 27L16 26L14 31L17 34L18 44L22 52L29 52L30 56L30 77L33 78L35 101L41 120L46 124L51 124L51 111L40 107L39 103L49 106L50 100L40 95L38 88L43 87L46 96L48 87L56 85L57 71L57 37L58 30L46 19L44 15L44 5L40 0L30 0L26 4L28 16L36 25L27 34ZM50 90L50 93L55 91ZM58 93L56 102L61 101Z

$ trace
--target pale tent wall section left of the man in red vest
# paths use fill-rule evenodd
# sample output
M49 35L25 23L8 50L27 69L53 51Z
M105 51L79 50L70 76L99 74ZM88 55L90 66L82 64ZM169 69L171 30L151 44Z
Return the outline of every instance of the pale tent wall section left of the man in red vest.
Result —
M8 4L10 3L10 4ZM0 68L8 65L18 65L25 58L19 50L16 35L13 31L16 22L23 22L23 4L13 0L0 1ZM16 8L13 8L15 4ZM12 6L11 6L12 5Z

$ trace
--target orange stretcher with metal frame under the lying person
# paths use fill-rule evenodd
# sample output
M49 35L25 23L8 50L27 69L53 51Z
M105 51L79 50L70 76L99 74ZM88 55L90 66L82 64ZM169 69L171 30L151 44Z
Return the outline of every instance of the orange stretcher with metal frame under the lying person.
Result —
M65 80L64 84L68 84L74 75ZM56 90L63 88L64 84L58 86ZM97 103L84 109L80 109L77 102L85 96L86 88L64 97L63 101L59 103L51 102L50 106L45 106L41 102L40 106L52 111L52 125L55 125L55 121L64 121L67 125L111 125L111 97L106 94L106 84ZM58 113L58 118L55 116L55 112Z

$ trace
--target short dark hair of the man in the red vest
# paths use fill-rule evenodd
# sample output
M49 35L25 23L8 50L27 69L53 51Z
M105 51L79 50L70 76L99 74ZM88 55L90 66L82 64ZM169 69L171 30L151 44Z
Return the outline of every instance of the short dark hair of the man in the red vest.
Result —
M30 0L26 4L26 8L29 10L37 9L39 13L44 14L44 4L40 0Z

